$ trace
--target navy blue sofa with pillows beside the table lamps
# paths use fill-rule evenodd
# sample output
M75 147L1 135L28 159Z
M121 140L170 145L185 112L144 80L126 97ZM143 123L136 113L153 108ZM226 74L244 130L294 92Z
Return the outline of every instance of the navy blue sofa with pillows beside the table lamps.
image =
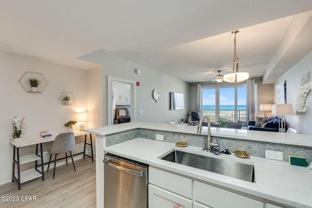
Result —
M278 132L278 125L280 120L277 116L270 117L266 119L263 123L263 125L256 125L256 121L248 121L248 130L254 130L254 131L265 131L265 132ZM287 129L287 127L286 127Z

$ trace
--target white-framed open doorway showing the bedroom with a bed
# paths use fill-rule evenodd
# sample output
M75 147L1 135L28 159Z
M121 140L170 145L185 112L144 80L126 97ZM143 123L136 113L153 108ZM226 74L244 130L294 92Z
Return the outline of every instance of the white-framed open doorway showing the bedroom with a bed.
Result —
M114 76L107 76L107 124L136 121L136 82ZM119 110L125 110L120 117ZM124 111L122 111L123 113ZM127 117L129 116L129 117Z

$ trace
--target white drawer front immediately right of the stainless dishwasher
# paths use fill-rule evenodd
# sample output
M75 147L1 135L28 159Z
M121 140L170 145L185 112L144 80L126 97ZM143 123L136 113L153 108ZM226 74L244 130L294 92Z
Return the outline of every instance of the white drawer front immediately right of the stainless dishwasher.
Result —
M192 199L192 179L149 167L149 183Z

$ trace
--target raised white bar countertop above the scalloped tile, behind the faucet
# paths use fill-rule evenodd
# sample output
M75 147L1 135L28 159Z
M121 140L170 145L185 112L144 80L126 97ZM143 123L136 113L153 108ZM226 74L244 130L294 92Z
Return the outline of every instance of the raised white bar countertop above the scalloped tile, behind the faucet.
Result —
M182 132L196 134L196 126L187 125L171 125L162 123L150 122L129 122L117 125L102 126L93 129L86 129L85 132L94 133L98 135L107 135L116 132L127 131L131 129L151 129L169 132ZM202 134L207 135L207 127L203 127ZM240 129L225 129L211 127L212 136L220 136L227 138L246 139L253 141L272 142L279 144L299 145L305 147L312 147L312 135L305 134L289 134L278 132L262 132L253 130L240 130Z

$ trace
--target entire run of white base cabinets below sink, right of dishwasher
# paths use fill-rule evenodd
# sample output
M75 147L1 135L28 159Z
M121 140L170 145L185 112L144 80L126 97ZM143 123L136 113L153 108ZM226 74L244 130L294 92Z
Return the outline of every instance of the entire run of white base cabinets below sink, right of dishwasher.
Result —
M263 208L264 200L149 167L149 208ZM269 205L269 203L267 204ZM279 208L275 205L269 205Z

